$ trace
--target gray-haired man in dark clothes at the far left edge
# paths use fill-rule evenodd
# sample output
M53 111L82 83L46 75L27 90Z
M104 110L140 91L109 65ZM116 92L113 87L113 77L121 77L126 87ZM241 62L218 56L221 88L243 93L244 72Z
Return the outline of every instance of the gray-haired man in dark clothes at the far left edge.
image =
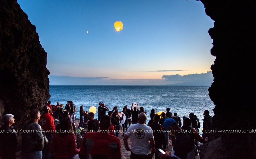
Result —
M0 157L2 159L16 159L17 130L12 127L15 120L13 117L12 114L6 114L2 117L4 123L0 128Z

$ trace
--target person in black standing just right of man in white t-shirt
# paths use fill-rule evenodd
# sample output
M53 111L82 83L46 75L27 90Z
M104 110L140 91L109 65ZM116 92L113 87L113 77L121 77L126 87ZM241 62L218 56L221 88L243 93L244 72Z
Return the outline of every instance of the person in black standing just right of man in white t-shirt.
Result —
M154 140L155 140L155 159L160 159L160 156L158 155L157 152L160 152L158 149L162 148L164 151L166 151L166 142L165 142L165 134L163 133L164 131L164 126L159 124L160 116L158 114L155 114L153 117L153 123L148 124L148 126L153 130L154 134Z

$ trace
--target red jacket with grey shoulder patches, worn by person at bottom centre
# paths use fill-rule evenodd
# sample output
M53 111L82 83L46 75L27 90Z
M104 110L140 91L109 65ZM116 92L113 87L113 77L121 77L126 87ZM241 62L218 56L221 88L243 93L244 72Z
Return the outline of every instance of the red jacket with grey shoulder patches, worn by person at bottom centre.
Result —
M86 158L87 149L91 147L89 156L92 158L99 158L105 156L105 158L121 159L121 143L120 139L109 133L87 133L81 143L81 149L79 151L79 157L81 159ZM110 149L114 147L114 149Z

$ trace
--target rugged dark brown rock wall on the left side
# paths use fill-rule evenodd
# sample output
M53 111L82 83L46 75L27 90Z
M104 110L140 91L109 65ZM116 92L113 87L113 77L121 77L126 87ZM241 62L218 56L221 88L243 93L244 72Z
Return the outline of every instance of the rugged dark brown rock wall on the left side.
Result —
M0 121L13 114L18 129L50 98L47 53L17 0L0 0Z

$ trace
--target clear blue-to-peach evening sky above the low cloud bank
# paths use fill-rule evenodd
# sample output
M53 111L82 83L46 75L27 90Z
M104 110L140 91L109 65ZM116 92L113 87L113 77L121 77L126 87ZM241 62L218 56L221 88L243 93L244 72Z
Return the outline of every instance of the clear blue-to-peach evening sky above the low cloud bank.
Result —
M18 3L37 28L50 76L163 81L162 75L211 71L215 59L213 20L195 0ZM120 32L115 21L123 22Z

